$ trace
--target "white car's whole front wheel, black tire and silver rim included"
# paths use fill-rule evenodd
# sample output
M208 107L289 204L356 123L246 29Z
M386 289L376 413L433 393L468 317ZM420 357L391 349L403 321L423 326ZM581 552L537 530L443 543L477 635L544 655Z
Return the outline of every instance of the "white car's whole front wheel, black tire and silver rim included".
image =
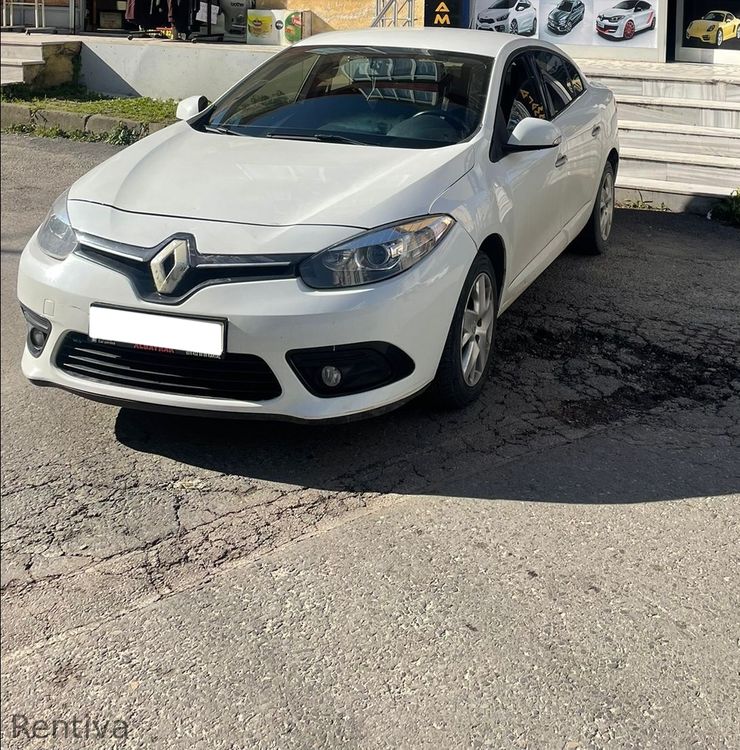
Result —
M488 256L479 252L465 277L432 385L438 404L461 409L480 395L493 361L497 315L496 275Z

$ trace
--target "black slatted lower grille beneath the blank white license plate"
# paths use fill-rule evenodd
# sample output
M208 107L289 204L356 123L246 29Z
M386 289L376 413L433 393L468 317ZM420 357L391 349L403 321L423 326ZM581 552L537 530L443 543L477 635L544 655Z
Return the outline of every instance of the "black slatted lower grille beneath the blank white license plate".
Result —
M227 353L222 359L167 353L103 343L68 333L56 366L78 378L185 396L266 401L282 393L267 363L253 354Z

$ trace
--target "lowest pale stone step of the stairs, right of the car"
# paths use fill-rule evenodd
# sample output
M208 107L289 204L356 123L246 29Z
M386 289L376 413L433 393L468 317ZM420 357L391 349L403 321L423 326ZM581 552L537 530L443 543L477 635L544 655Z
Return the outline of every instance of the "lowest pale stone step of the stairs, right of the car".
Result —
M651 180L620 174L616 182L618 203L627 201L646 204L652 208L667 208L670 211L687 211L703 214L730 194L727 188L716 185Z

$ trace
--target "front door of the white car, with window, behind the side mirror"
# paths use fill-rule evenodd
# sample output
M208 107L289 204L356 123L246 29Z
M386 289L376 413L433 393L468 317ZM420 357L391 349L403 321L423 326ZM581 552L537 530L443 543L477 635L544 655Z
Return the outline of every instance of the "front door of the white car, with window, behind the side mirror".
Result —
M486 169L491 203L498 206L511 249L507 274L515 279L562 229L565 155L561 147L508 152L505 144L524 117L547 119L547 108L529 52L504 69L491 159Z

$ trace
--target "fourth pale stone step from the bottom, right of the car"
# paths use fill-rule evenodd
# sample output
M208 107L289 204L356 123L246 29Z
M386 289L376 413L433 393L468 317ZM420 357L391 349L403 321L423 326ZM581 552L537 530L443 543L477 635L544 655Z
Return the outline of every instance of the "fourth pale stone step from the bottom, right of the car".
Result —
M620 120L740 128L740 102L617 94Z

